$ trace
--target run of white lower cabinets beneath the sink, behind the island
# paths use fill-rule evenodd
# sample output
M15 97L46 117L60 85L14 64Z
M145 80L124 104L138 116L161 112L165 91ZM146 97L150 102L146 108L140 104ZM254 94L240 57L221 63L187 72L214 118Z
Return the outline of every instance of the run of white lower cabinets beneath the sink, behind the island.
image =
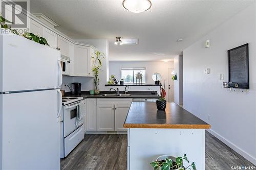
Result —
M127 131L123 128L133 99L86 99L87 131Z

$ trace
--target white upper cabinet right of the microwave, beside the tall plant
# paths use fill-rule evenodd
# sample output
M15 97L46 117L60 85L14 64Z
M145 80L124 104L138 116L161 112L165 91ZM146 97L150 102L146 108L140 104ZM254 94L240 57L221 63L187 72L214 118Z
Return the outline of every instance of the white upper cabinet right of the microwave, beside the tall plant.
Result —
M74 75L92 76L91 55L93 48L83 45L75 45Z

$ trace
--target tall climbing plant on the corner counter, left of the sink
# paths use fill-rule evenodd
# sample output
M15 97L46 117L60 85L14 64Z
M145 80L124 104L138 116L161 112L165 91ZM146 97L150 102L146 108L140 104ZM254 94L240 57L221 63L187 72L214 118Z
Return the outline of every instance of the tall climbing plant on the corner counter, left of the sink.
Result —
M104 53L101 53L99 51L95 51L92 55L92 61L93 61L93 68L92 68L92 72L94 74L94 85L95 85L95 89L94 89L94 94L99 94L99 70L100 67L102 66L102 62L101 59L105 58Z

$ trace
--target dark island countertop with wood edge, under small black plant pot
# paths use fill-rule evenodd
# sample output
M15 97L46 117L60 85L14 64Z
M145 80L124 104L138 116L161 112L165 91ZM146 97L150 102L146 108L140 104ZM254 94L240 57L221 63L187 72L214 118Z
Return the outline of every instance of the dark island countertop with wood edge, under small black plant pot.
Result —
M165 111L156 103L134 102L123 125L124 128L209 129L210 125L175 103L167 103Z

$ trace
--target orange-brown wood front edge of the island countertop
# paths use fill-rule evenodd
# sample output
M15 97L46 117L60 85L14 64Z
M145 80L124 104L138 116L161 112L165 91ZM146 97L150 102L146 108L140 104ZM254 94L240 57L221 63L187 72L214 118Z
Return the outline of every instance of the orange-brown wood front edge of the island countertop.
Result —
M210 125L123 124L124 128L210 129Z

